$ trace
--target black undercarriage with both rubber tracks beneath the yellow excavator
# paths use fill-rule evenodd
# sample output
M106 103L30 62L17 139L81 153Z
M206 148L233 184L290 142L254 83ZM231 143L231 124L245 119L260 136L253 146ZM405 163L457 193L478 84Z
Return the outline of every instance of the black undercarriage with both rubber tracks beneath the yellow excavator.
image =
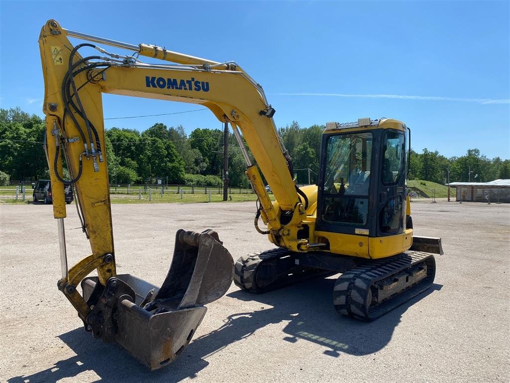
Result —
M432 254L420 251L373 260L277 248L240 257L234 282L243 290L261 294L337 273L342 273L333 291L337 312L371 321L428 289L436 262Z

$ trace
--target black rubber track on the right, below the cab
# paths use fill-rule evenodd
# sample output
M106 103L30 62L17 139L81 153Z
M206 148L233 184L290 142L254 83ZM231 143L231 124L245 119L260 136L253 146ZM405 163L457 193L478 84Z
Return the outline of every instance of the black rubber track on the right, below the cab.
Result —
M367 304L368 300L371 301L370 289L374 283L422 263L427 265L425 278L414 285L407 286L405 290L388 297L379 304ZM333 291L333 303L340 314L363 321L372 321L428 289L434 280L435 273L435 259L429 253L405 252L374 260L342 274L337 279Z

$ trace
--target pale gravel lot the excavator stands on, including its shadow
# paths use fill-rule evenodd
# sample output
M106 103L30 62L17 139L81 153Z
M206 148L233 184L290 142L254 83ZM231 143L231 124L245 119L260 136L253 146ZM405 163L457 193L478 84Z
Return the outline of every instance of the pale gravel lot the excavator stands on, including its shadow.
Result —
M175 231L214 228L240 255L272 245L249 203L113 205L117 272L161 284ZM149 372L94 340L57 290L52 207L0 205L2 382L508 382L510 205L413 202L416 235L441 236L432 288L361 323L331 302L336 276L265 295L228 293L208 305L173 364ZM69 264L89 255L77 214L66 219Z

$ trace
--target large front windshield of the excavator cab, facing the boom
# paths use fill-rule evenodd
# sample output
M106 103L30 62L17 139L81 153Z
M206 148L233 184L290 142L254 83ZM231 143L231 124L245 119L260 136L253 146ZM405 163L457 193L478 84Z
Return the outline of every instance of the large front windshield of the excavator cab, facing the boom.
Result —
M328 137L322 184L323 221L342 225L366 225L371 162L372 133Z

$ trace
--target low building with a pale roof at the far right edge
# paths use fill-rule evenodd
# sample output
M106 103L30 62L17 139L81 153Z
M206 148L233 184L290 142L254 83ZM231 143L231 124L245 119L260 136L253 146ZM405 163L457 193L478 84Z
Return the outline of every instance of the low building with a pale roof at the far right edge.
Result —
M456 201L510 203L510 180L491 182L450 182L455 187Z

